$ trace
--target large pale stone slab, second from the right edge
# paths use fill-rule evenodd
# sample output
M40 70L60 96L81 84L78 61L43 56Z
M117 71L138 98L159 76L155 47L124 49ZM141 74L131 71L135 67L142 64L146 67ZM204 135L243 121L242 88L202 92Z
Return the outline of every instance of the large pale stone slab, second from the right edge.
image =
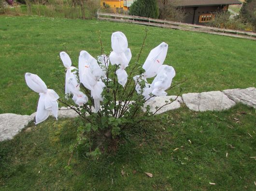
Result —
M201 112L226 110L236 104L221 91L186 93L182 99L189 109Z

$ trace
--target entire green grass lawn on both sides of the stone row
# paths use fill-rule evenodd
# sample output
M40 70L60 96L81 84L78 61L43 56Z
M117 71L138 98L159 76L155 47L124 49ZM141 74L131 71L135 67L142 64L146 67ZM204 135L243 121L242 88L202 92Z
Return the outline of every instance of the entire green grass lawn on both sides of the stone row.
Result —
M97 31L107 52L111 34L126 34L134 64L144 37L142 25L97 20L0 16L0 113L35 112L38 94L25 83L26 72L39 75L49 89L64 95L58 55L67 49L73 65L86 50L100 54ZM165 64L176 70L173 84L183 93L255 87L256 42L157 27L149 35L140 63L165 41ZM65 48L66 47L66 48ZM128 70L131 67L128 67ZM179 87L169 95L178 94ZM178 110L152 117L122 131L100 147L99 158L82 149L73 154L76 119L49 117L13 140L0 142L0 191L253 191L256 189L256 112L242 104L223 112ZM145 172L152 173L153 178ZM213 184L210 184L214 183Z

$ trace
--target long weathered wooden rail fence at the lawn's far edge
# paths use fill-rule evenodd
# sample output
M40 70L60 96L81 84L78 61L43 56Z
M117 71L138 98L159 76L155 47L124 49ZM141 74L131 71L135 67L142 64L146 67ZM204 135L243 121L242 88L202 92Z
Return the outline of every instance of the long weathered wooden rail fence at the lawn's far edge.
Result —
M99 20L134 23L134 24L148 25L148 26L159 26L159 27L173 28L173 29L179 29L179 30L196 31L196 32L209 33L214 35L222 35L222 36L228 36L228 37L247 38L247 39L256 40L256 33L248 32L248 31L231 30L231 29L217 28L217 27L204 26L204 25L192 25L187 23L152 19L147 17L132 16L132 15L99 13L99 12L97 14L98 14Z

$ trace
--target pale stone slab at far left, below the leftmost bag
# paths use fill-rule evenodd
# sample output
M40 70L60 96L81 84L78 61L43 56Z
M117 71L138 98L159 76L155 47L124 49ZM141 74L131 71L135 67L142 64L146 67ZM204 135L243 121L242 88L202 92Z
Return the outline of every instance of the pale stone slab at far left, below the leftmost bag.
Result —
M12 139L33 120L33 115L0 114L0 141Z

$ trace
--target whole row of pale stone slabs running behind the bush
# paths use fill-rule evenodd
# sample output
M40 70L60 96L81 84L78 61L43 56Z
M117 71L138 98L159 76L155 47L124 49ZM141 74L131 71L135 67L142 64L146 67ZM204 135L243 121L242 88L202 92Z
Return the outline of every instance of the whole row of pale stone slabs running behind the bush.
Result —
M156 107L164 105L170 99L175 100L156 112ZM185 93L180 96L156 97L154 101L145 103L151 108L151 112L161 114L166 111L178 109L181 103L193 111L222 111L242 102L256 109L256 88L226 89L223 91L208 91L202 93ZM31 115L0 114L0 141L12 139L18 132L34 120L36 113ZM72 109L62 107L58 111L58 117L76 117L78 114Z

